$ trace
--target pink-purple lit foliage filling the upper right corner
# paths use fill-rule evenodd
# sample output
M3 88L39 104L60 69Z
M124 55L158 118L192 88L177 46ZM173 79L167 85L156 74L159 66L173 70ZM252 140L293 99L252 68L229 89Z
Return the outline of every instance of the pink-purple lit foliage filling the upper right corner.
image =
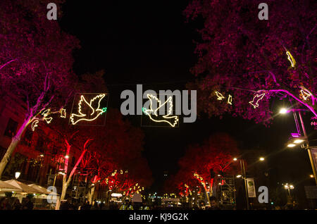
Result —
M192 68L200 78L187 85L198 91L198 110L269 125L270 99L287 98L317 116L316 1L266 1L268 20L258 18L261 2L193 0L185 9L187 20L204 20ZM311 96L306 99L302 89ZM232 95L232 105L219 101L215 91ZM263 93L259 106L249 104Z

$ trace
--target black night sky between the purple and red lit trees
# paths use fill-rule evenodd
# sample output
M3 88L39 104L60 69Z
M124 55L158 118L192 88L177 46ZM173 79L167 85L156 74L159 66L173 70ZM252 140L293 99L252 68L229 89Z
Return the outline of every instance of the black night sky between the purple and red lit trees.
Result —
M101 4L102 2L102 4ZM106 3L104 3L106 2ZM185 23L182 11L189 1L70 1L63 6L61 25L80 39L82 48L75 52L74 70L78 75L104 69L110 92L109 107L120 108L124 89L185 89L194 76L193 39L201 23ZM279 102L273 104L278 110ZM130 116L139 126L140 116ZM306 120L307 129L309 116ZM163 184L163 171L175 173L178 159L188 144L201 142L214 132L228 132L241 149L265 149L267 163L281 182L302 179L311 173L306 151L282 150L290 130L292 115L277 116L271 127L225 116L200 118L196 123L181 123L178 128L142 127L144 156L154 175L153 191ZM311 130L309 129L310 133ZM282 151L281 151L282 150ZM280 151L280 152L278 152ZM274 155L274 156L273 156ZM299 180L298 179L298 180Z

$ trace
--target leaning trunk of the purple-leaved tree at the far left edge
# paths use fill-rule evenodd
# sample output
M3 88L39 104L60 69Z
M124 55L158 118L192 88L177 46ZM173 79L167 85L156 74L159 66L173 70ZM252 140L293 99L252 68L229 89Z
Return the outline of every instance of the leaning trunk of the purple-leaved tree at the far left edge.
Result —
M4 173L4 169L6 168L6 165L8 164L8 161L10 161L11 155L13 154L14 149L17 147L18 143L20 142L21 136L27 127L27 125L30 124L31 118L27 118L24 120L23 124L19 128L18 132L15 134L14 137L12 137L11 143L6 149L6 154L4 154L4 158L2 158L0 162L0 180L1 180L1 175Z

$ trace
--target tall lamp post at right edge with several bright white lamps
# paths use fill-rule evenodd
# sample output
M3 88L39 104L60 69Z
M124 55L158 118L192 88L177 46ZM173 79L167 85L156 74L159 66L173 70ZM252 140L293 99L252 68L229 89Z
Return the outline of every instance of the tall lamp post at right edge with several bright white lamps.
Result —
M299 120L301 122L302 130L303 130L303 133L304 133L304 139L296 139L294 142L288 144L287 147L295 147L296 144L300 144L302 142L306 142L306 146L304 144L301 144L301 147L304 148L304 149L307 149L307 152L309 154L309 161L311 162L311 168L313 170L313 176L315 178L315 182L316 182L316 185L317 185L316 166L315 166L315 164L313 162L313 156L311 154L311 148L309 147L309 140L308 140L308 137L307 137L307 134L306 134L306 129L305 129L305 125L304 125L304 122L303 122L302 113L301 113L301 111L305 111L305 110L302 110L302 109L288 109L287 110L286 108L282 108L280 110L280 113L284 114L284 113L288 113L290 111L292 111L294 113L294 120L295 120L295 124L296 124L296 127L297 127L297 132L300 133L298 120L297 120L297 116L296 116L296 112L298 112Z

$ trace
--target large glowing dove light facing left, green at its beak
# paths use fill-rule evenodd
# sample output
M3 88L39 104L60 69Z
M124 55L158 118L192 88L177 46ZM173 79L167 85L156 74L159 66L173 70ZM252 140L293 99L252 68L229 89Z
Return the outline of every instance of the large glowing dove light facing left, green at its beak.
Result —
M144 108L143 112L155 122L165 122L168 123L170 126L175 127L175 125L178 123L178 116L170 116L173 111L172 97L168 97L168 99L163 104L157 97L154 97L154 95L152 94L147 94L147 98L149 98L150 100L150 107L149 109ZM155 110L152 107L153 103L156 103L156 105L159 104L159 106ZM168 112L164 116L159 116L158 111L165 104L167 104Z

